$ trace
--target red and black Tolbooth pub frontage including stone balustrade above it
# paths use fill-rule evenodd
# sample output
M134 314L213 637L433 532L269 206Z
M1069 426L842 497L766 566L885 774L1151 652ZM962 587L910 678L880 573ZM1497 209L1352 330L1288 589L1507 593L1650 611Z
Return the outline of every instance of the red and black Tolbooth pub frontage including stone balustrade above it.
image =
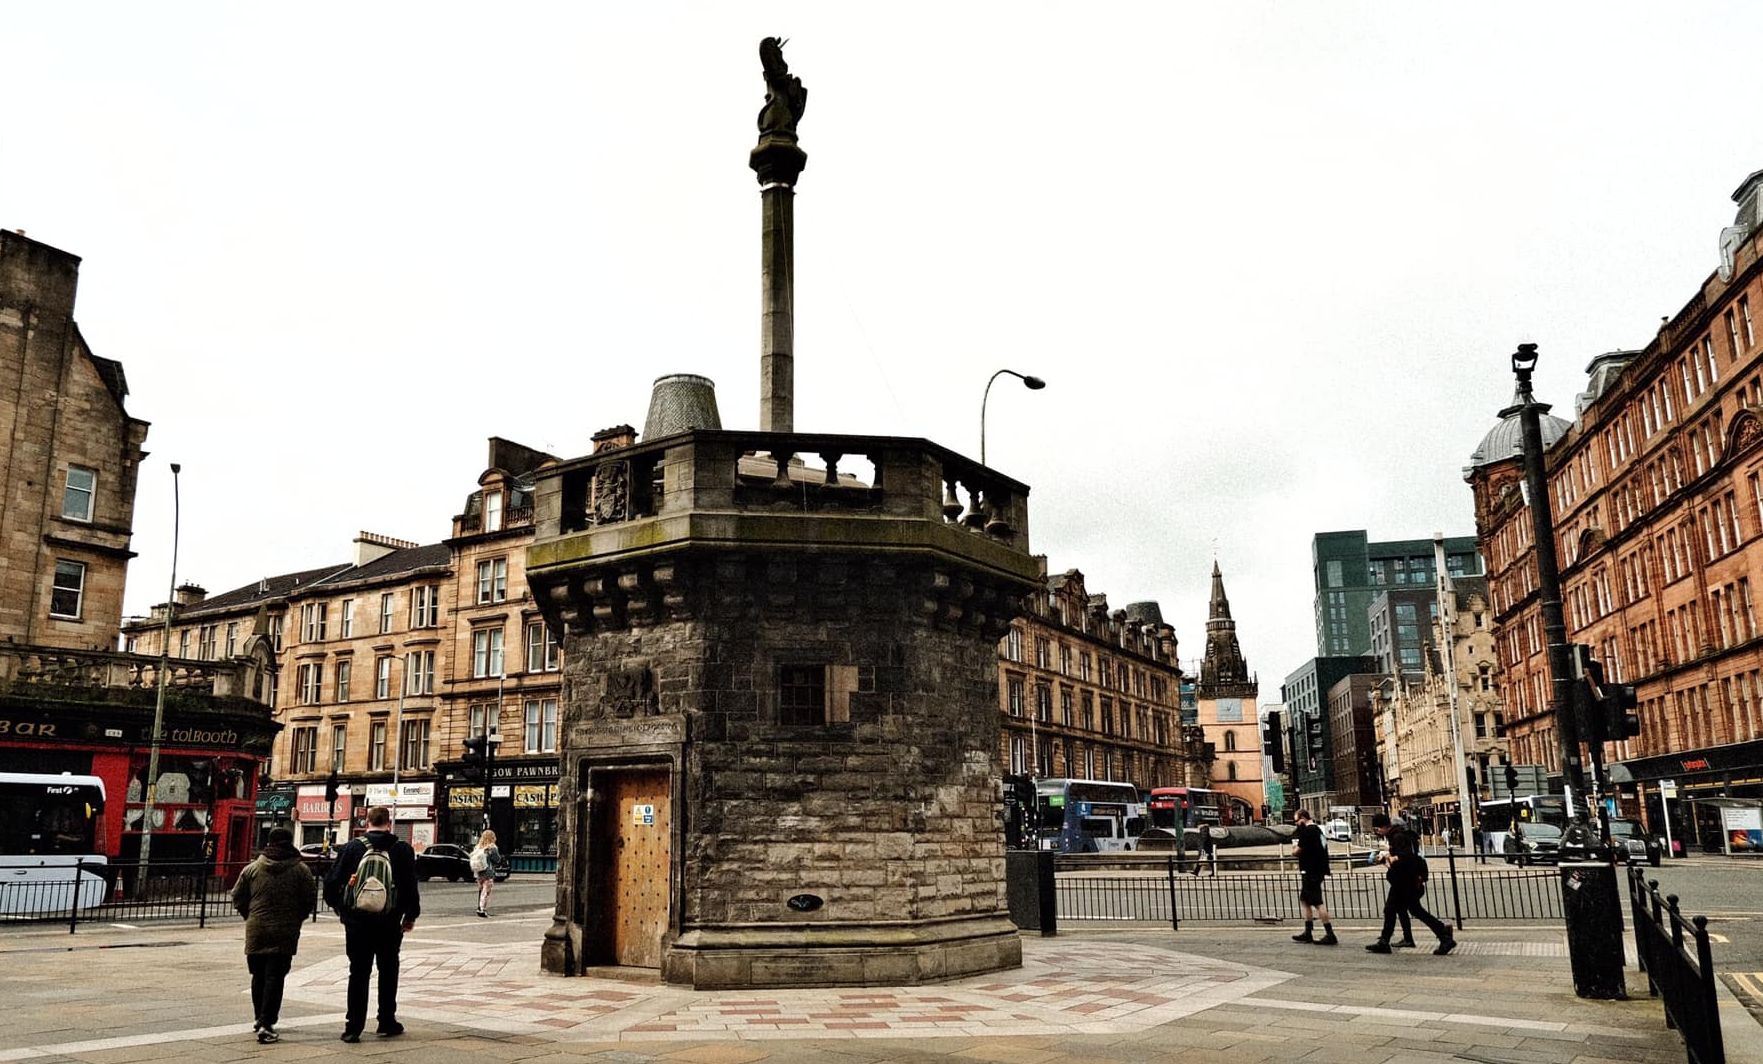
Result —
M266 662L178 661L167 668L153 863L249 860L257 784L275 731ZM0 645L0 772L104 780L99 847L141 851L159 661L130 654Z

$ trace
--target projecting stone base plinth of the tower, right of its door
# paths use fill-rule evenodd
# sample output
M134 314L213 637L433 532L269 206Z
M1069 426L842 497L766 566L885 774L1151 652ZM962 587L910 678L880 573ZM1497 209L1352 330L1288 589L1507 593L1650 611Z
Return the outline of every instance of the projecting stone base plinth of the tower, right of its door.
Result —
M1021 967L1007 916L887 923L693 928L661 958L661 978L695 990L915 986Z

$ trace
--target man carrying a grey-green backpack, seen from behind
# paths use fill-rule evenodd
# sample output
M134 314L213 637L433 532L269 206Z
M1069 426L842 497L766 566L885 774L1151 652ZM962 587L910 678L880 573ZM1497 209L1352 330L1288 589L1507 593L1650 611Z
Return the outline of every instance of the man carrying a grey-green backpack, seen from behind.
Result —
M391 833L391 810L367 810L367 835L337 851L337 863L324 877L324 904L344 928L349 955L349 1006L342 1039L361 1041L367 1027L367 979L379 967L381 1038L404 1034L398 1023L398 946L416 925L423 905L416 895L416 851Z

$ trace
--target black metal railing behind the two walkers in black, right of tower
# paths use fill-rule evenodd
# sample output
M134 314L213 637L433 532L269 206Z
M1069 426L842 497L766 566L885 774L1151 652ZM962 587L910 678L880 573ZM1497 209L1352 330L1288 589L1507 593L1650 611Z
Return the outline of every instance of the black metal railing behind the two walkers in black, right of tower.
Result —
M1423 902L1440 920L1562 920L1560 877L1553 868L1479 868L1458 853L1433 854ZM1220 870L1222 868L1222 870ZM1061 860L1058 918L1075 921L1253 923L1301 920L1299 874L1231 872L1227 863L1169 856L1130 870L1088 872ZM1335 920L1379 920L1389 884L1382 865L1342 863L1322 881Z

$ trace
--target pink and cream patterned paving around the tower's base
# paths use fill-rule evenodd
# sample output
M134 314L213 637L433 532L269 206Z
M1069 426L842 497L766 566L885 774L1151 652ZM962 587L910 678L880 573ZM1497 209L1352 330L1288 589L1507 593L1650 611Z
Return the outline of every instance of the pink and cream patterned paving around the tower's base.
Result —
M564 1041L1125 1034L1291 978L1158 946L1026 939L1021 969L936 986L693 992L541 976L531 944L515 942L407 948L398 1011ZM347 958L335 957L296 971L287 997L337 1004L347 981Z

